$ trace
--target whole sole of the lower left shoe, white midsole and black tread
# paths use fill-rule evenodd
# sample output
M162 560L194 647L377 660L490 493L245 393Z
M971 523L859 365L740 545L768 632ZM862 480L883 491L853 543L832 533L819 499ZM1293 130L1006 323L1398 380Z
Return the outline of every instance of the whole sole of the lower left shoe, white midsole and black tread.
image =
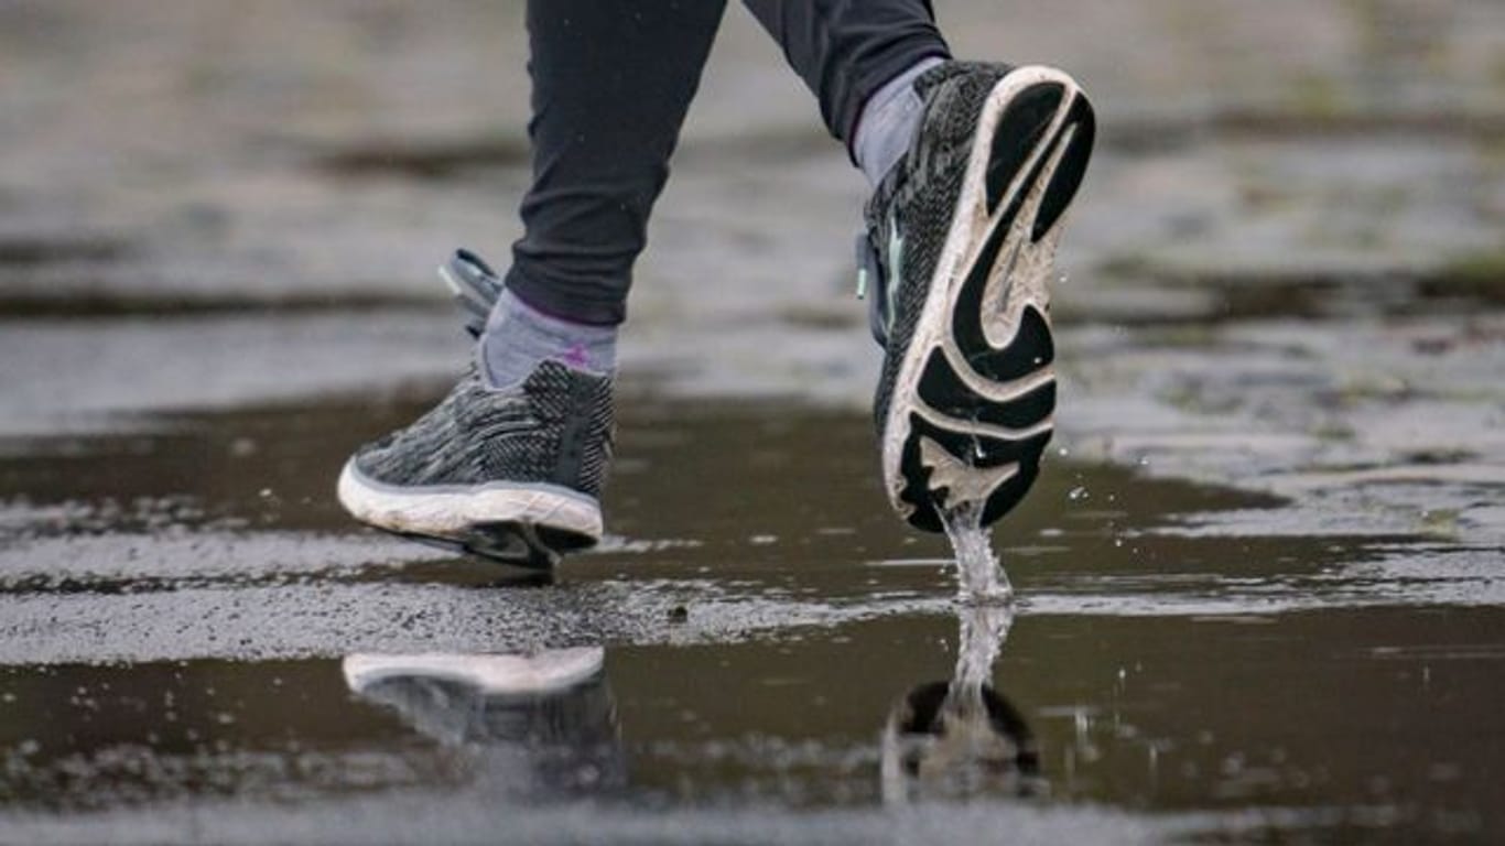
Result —
M549 569L600 540L600 506L554 485L430 485L376 482L354 459L339 483L355 519L393 534L530 569Z

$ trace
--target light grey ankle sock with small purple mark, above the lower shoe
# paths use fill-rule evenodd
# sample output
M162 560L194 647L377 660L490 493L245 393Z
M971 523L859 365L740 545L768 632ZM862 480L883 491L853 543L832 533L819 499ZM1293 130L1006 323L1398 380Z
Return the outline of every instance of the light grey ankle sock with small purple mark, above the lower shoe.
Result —
M617 366L617 327L573 324L539 312L503 291L480 336L486 381L494 388L521 384L542 361L610 373Z

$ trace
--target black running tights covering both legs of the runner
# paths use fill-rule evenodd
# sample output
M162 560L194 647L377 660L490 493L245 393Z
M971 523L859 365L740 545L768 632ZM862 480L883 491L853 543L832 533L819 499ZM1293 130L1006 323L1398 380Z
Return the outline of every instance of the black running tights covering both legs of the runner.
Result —
M947 56L929 0L745 0L852 143L867 96ZM649 212L724 0L528 0L533 184L507 286L533 307L619 324Z

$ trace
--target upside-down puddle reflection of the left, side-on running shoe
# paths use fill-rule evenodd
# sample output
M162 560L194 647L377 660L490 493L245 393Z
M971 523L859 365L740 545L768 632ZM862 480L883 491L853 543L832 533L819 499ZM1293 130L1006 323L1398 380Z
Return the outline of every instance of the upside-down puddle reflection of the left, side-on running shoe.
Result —
M423 735L464 748L477 787L515 798L626 783L600 647L536 655L348 655L345 682Z

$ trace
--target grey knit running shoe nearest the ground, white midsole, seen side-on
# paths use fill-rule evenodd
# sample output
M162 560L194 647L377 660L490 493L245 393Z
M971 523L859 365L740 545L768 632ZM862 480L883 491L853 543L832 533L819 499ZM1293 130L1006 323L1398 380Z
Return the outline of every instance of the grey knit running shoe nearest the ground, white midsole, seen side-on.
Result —
M464 288L495 300L500 283L473 272L495 280L483 262L462 251L441 275L461 271ZM351 456L339 497L376 528L545 569L600 539L611 449L610 376L543 361L492 388L473 361L438 406Z

